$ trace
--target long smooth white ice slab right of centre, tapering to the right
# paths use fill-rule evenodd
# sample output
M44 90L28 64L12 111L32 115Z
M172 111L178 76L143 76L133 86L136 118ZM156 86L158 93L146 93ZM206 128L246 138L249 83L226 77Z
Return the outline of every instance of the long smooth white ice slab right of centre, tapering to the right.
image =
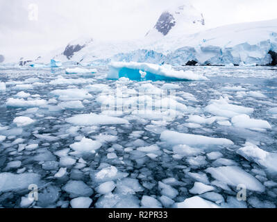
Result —
M166 130L160 135L160 139L167 144L171 145L232 145L230 139L212 138L201 135L190 135L186 133L177 133L174 131Z

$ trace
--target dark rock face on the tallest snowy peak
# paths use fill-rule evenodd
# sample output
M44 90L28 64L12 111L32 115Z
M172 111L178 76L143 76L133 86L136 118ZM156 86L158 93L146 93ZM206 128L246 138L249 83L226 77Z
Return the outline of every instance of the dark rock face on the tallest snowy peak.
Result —
M167 35L167 33L169 33L171 28L173 28L175 25L176 22L173 15L171 15L169 12L163 12L158 19L155 28L158 30L158 32L162 33L162 35Z

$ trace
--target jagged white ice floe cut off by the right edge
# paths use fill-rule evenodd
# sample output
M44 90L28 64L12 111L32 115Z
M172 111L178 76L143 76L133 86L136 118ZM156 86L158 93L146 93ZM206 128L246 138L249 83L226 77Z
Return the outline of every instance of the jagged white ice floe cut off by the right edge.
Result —
M249 142L237 150L237 153L242 155L246 160L265 167L271 173L277 173L277 153L269 153Z

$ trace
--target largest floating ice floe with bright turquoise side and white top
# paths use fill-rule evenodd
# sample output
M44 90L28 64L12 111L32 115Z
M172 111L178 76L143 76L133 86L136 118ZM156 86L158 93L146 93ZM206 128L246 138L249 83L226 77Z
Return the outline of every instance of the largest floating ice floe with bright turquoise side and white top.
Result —
M143 74L143 75L142 75ZM139 62L112 62L108 78L126 77L131 80L208 80L193 71L176 71L171 65L156 65Z

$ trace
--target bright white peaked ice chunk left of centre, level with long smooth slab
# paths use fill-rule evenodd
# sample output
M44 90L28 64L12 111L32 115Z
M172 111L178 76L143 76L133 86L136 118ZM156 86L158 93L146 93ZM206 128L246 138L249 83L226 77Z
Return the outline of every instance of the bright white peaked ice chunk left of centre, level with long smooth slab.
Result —
M95 151L98 150L101 146L102 144L100 142L83 137L81 142L71 144L70 148L72 148L77 153L95 153Z

